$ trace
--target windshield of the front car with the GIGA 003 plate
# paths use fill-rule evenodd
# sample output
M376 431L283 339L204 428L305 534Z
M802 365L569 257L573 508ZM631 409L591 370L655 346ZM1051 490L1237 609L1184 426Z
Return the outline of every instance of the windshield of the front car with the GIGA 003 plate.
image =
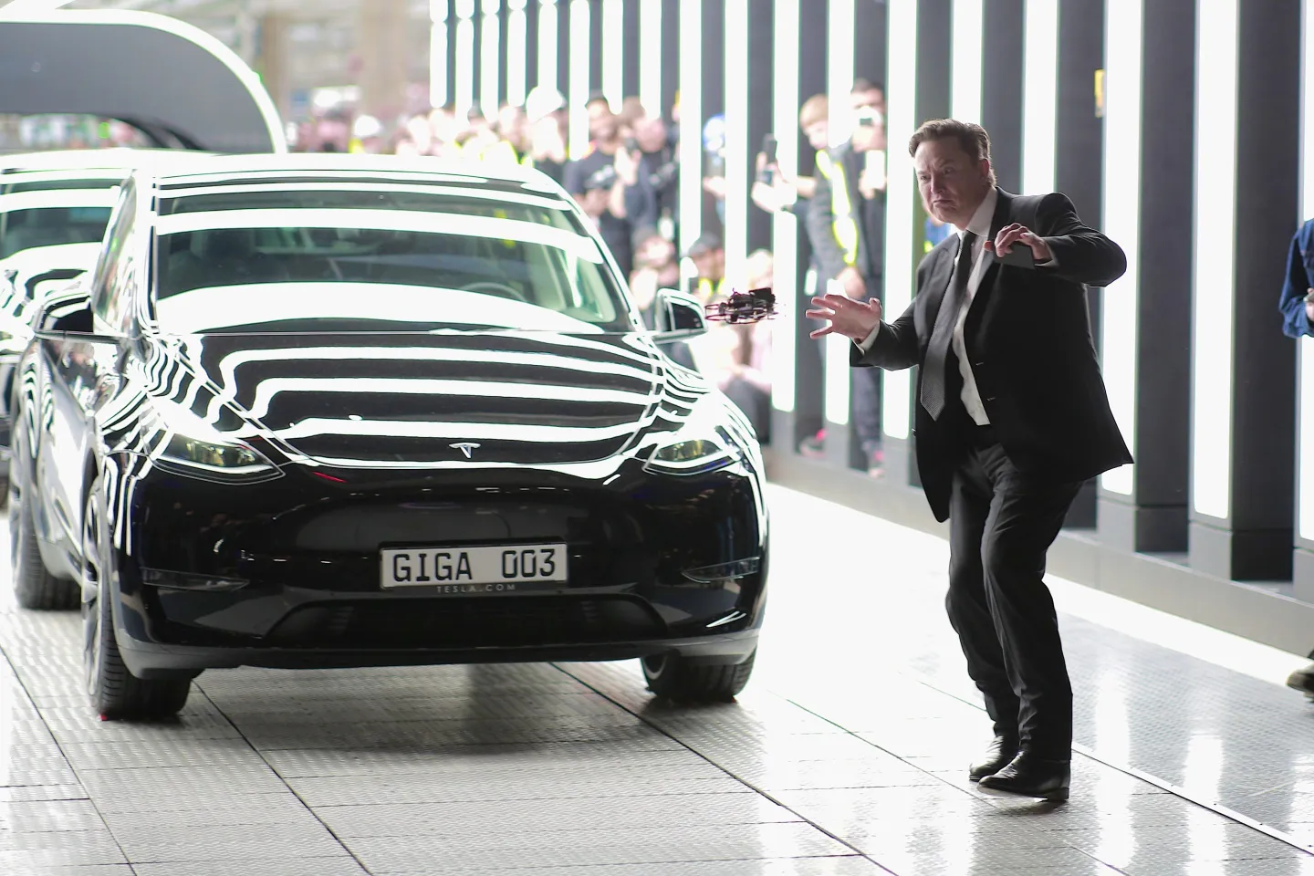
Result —
M166 334L633 330L566 201L530 190L168 186L154 277Z

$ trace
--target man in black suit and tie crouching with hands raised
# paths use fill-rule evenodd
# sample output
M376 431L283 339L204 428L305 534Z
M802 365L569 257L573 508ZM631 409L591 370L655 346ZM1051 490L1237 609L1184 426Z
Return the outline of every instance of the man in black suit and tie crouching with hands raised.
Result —
M879 301L812 299L854 341L853 365L918 365L917 465L950 521L949 620L995 741L971 767L992 793L1066 800L1072 687L1045 556L1080 485L1131 462L1091 338L1087 286L1126 271L1118 244L1063 194L995 185L989 135L954 120L912 137L926 211L962 229L917 268L892 323Z

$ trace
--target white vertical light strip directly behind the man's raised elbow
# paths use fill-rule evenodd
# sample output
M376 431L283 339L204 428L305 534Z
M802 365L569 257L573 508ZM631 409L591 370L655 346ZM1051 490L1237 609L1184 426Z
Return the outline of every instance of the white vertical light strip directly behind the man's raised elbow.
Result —
M1137 338L1141 285L1141 64L1143 0L1108 0L1104 13L1104 231L1127 271L1100 297L1100 366L1123 437L1137 440ZM1100 486L1131 495L1135 469L1105 471Z

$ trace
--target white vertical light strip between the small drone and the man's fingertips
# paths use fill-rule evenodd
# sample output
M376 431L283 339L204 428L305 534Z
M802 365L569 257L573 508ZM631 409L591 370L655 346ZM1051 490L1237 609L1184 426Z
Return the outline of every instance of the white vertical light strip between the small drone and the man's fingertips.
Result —
M775 28L771 51L771 130L779 141L775 155L781 173L796 179L799 172L799 0L775 0ZM804 297L794 288L799 276L799 226L792 213L782 210L771 218L771 253L781 318L771 331L771 406L794 410L795 320Z

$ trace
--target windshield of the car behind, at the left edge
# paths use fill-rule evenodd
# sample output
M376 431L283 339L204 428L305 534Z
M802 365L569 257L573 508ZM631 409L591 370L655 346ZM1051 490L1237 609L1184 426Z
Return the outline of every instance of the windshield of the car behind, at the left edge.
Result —
M0 190L0 259L37 247L99 243L118 197L117 183L102 180L8 183Z

